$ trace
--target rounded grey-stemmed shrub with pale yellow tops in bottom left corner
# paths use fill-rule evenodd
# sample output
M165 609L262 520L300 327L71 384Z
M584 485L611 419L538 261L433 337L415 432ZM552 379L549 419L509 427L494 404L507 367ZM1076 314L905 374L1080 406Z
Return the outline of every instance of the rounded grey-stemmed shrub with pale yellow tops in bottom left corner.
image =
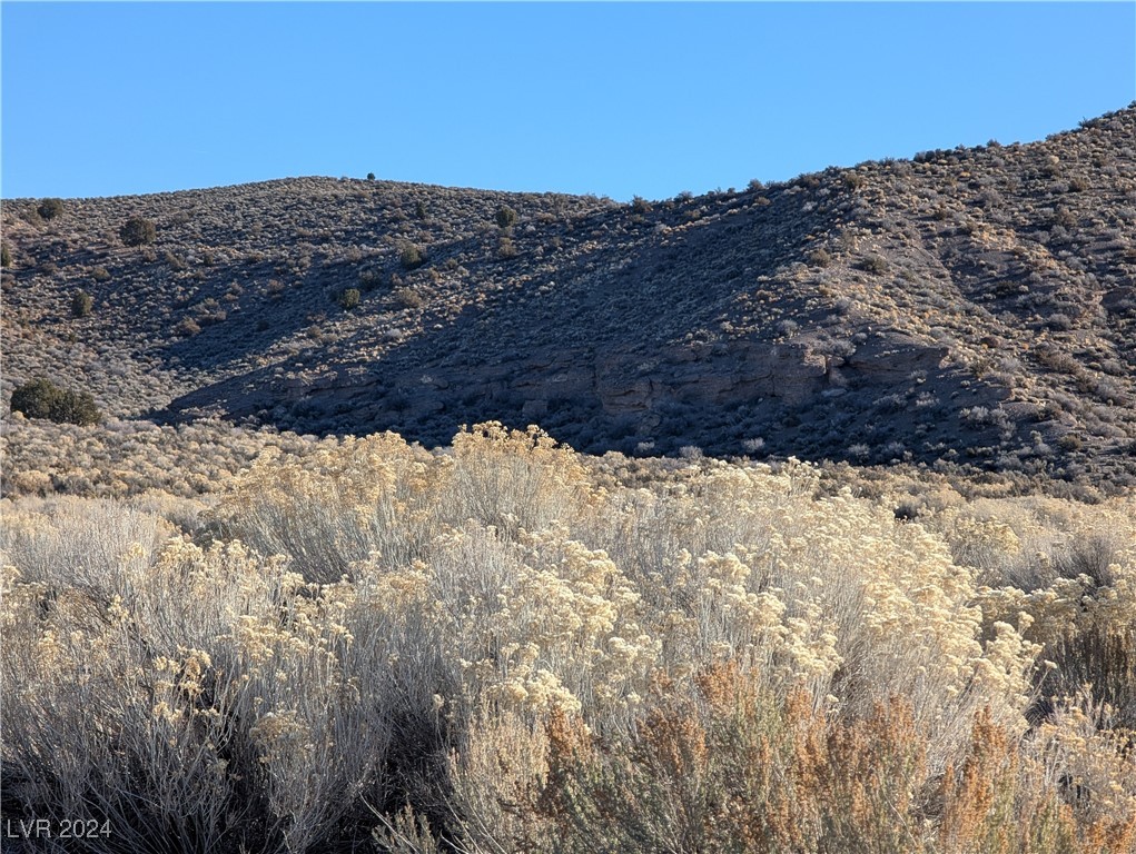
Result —
M90 583L30 561L6 577L19 640L3 677L27 695L6 710L6 790L24 810L109 820L100 851L235 854L327 849L352 810L383 803L391 721L369 697L393 653L384 617L354 626L349 652L351 618L327 619L337 594L310 597L281 561L179 539L118 558L101 529L87 541L110 558ZM364 676L366 693L336 687Z

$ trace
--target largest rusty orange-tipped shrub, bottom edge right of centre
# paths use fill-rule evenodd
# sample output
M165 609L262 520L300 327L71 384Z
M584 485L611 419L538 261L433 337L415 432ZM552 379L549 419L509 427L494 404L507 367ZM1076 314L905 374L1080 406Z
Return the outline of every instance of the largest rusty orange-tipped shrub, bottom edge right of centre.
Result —
M863 722L770 697L729 665L694 696L659 704L629 744L607 746L578 721L549 725L549 785L534 812L586 851L918 852L926 773L902 702Z

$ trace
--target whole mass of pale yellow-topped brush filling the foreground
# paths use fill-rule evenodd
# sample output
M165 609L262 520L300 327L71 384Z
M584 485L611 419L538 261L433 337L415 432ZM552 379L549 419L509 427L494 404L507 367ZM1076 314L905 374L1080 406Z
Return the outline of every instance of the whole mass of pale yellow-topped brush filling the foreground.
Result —
M817 486L600 487L488 424L270 455L210 545L7 513L6 798L112 819L100 851L1130 851L1113 711L1024 717L1055 603ZM1110 572L1078 595L1122 626L1131 554Z

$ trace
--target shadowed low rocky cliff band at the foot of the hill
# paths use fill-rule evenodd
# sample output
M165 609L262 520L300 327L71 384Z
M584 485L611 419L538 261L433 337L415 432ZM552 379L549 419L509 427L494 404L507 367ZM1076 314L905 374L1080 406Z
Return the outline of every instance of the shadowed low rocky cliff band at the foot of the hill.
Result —
M242 375L194 391L169 411L187 417L219 409L252 422L331 419L350 425L340 432L395 429L425 444L443 444L458 425L493 418L545 426L593 452L677 453L698 446L713 454L788 455L837 442L846 449L857 436L902 437L919 425L925 441L934 437L946 446L974 428L958 418L920 420L903 402L920 390L937 403L957 394L960 383L969 384L949 357L947 348L894 332L841 352L809 340L692 343L649 354L567 348L479 365L443 358L318 367L276 382ZM1004 388L976 383L966 400L996 408L1006 396ZM836 430L842 435L832 435ZM893 459L912 458L907 446L880 450ZM855 454L867 459L874 452Z

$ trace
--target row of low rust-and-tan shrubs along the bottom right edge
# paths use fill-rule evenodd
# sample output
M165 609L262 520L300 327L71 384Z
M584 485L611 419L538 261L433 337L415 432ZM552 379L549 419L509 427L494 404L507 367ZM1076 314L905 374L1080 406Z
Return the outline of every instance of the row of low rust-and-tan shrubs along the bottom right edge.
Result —
M460 770L483 788L457 782L470 849L1120 854L1136 831L1130 792L1087 796L1126 773L1076 709L1024 746L979 711L935 768L901 698L844 720L718 664L652 705L634 735L565 712L543 731L475 726Z

